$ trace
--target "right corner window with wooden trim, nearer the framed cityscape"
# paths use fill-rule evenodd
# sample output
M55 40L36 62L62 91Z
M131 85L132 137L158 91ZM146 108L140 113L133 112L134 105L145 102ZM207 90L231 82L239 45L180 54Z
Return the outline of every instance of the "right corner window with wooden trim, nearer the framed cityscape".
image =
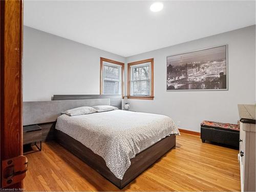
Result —
M128 98L154 99L154 59L128 63Z

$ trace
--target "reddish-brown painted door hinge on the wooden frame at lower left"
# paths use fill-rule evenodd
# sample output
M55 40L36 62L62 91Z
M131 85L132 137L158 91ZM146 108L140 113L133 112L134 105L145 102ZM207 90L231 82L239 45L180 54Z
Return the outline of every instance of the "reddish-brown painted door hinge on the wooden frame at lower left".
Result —
M2 161L2 188L22 181L28 170L27 157L20 155Z

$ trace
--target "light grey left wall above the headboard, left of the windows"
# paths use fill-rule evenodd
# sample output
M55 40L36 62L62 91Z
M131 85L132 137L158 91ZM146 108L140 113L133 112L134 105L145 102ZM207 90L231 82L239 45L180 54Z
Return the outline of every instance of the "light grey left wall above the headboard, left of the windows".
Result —
M100 57L125 58L56 35L24 27L24 101L54 94L99 94Z

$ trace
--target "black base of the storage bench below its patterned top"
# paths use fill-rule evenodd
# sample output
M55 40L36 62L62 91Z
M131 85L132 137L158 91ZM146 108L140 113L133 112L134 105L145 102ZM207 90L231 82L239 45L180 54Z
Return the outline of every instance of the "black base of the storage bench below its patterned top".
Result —
M229 130L218 130L209 127L201 126L201 139L205 141L212 141L221 144L239 147L239 132Z

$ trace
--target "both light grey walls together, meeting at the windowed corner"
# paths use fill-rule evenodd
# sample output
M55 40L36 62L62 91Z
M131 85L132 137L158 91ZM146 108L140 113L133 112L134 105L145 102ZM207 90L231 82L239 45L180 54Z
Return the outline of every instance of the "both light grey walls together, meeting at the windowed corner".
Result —
M166 92L167 55L225 44L228 91ZM127 58L24 27L24 101L50 100L53 94L99 94L100 57L126 63L154 57L155 99L130 99L131 110L167 115L183 129L199 132L204 119L236 123L237 104L255 102L255 26Z

